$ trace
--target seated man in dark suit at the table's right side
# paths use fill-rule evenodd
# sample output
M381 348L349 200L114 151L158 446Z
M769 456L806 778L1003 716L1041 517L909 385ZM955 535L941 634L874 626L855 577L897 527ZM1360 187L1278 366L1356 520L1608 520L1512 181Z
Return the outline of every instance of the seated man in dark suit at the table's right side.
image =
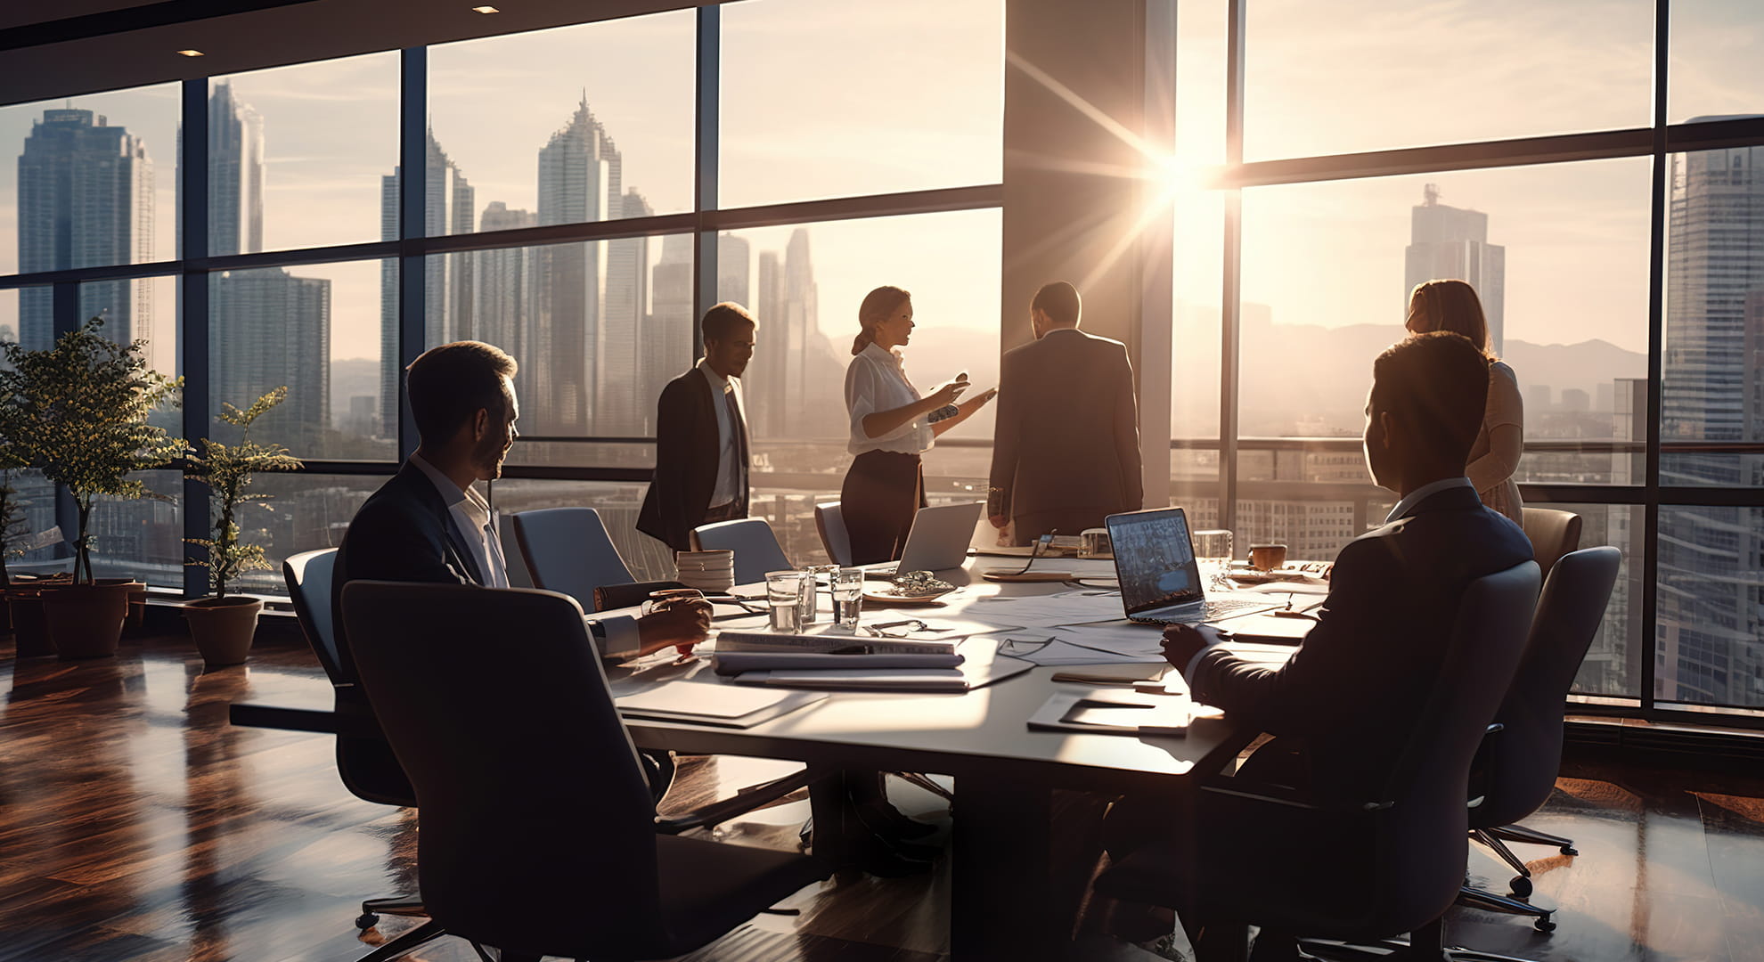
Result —
M1233 655L1217 628L1164 630L1164 657L1194 701L1275 736L1240 778L1318 801L1376 798L1439 674L1464 590L1531 560L1524 531L1485 508L1464 477L1487 385L1487 357L1455 334L1409 337L1378 357L1365 461L1401 500L1385 526L1341 549L1318 623L1284 665ZM1177 826L1164 805L1118 801L1104 844L1122 854L1175 842L1208 884L1252 884L1256 860L1242 842L1267 826L1230 824L1228 796L1210 796L1207 808L1205 824ZM1323 840L1258 838L1258 851L1268 851L1263 842L1309 853ZM1196 920L1187 921L1192 930ZM1258 958L1263 951L1258 943Z

